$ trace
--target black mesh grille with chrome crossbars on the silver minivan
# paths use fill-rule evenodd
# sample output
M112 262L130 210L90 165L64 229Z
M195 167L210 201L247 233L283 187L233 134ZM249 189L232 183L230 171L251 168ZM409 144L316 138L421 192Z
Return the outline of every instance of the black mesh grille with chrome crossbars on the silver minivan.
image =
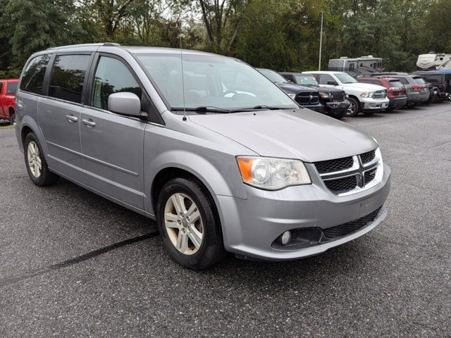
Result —
M376 150L366 153L313 163L324 185L335 195L358 191L376 178L380 161ZM382 169L381 169L382 170Z

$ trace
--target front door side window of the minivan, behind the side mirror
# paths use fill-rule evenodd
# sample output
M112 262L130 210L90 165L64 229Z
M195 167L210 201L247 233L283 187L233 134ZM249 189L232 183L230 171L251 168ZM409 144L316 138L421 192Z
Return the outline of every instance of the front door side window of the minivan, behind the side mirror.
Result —
M121 61L101 56L94 77L91 106L108 110L108 97L119 92L131 92L140 99L142 96L140 85Z

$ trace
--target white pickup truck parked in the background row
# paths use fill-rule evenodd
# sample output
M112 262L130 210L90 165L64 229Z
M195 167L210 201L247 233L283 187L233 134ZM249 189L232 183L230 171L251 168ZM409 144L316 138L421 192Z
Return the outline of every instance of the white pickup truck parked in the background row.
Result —
M387 99L387 89L376 84L359 83L347 73L314 71L303 74L314 75L321 87L343 89L350 96L348 100L351 105L347 116L355 116L360 111L365 115L384 111L390 102Z

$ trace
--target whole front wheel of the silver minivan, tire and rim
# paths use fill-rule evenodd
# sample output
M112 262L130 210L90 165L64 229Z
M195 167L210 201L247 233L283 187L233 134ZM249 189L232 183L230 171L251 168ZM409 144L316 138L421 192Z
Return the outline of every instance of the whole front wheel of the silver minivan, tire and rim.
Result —
M181 265L201 270L226 256L214 200L197 180L180 177L167 182L156 211L163 244Z

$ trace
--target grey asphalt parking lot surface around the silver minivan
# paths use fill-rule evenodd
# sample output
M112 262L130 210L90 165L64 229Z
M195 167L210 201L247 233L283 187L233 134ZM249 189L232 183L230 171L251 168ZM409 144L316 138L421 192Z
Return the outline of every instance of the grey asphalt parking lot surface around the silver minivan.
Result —
M345 122L392 168L387 220L314 258L202 272L147 218L35 187L0 130L0 337L450 337L451 103Z

